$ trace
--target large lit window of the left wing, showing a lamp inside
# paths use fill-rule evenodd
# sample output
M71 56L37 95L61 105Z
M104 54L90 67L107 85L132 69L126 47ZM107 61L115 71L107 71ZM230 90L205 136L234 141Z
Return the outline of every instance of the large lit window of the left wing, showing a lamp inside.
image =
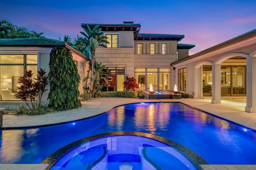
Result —
M2 101L20 101L20 99L14 98L13 93L16 93L17 87L20 85L18 78L23 76L25 69L32 71L32 79L34 80L37 76L37 54L0 55L0 95Z

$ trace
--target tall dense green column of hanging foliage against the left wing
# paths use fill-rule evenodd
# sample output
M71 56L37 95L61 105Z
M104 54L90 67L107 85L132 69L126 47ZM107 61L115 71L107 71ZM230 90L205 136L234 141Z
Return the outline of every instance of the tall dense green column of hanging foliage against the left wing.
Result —
M71 52L66 48L57 48L50 58L49 107L57 111L65 111L81 107L78 86L80 76Z

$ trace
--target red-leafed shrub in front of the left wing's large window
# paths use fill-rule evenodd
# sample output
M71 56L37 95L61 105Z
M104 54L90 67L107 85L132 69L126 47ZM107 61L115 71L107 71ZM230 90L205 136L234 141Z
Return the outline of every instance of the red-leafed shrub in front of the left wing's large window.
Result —
M45 89L46 85L48 85L48 77L45 75L45 71L43 69L40 69L37 71L37 79L36 81L32 80L32 71L31 70L25 70L25 73L22 77L20 77L18 80L18 83L21 83L20 87L17 87L18 92L15 95L15 98L21 99L26 102L26 105L30 109L37 109L41 105L41 99L43 93L47 90ZM38 98L38 105L37 105L37 99ZM32 105L32 108L30 105Z

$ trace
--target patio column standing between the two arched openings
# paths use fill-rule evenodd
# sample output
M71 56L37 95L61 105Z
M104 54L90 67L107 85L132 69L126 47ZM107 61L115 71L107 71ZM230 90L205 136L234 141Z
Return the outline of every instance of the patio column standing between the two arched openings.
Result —
M221 65L214 63L212 65L212 103L220 103L220 75Z

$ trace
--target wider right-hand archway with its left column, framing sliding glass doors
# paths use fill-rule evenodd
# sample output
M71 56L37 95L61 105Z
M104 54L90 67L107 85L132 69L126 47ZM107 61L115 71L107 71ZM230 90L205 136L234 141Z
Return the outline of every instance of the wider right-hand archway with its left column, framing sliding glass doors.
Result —
M235 103L239 97L243 98L241 105L246 105L247 57L244 53L230 53L214 62L212 103L223 103L227 99Z

